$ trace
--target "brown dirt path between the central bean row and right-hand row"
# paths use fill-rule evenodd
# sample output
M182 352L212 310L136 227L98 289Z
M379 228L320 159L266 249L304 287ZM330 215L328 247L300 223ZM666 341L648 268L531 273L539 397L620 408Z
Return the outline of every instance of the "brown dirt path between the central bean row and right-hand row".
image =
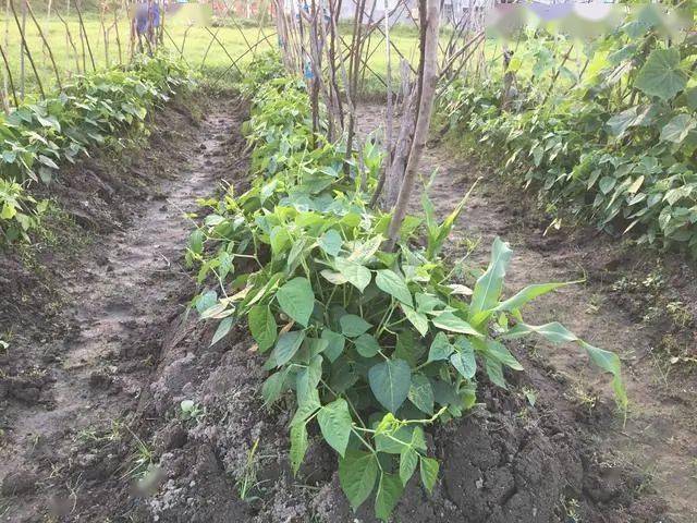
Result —
M382 125L382 107L364 107L362 112L366 130ZM430 193L436 208L443 215L481 178L445 248L453 260L462 258L476 243L470 259L486 264L491 242L499 235L510 242L514 251L506 273L509 293L529 283L587 278L583 284L539 299L524 315L531 324L559 320L586 341L620 354L632 403L626 425L613 411L607 377L590 368L587 357L575 346L547 343L528 346L525 356L563 384L565 400L578 409L565 409L565 402L555 397L558 390L545 380L535 381L540 398L570 421L578 419L587 426L599 451L612 457L606 463L608 470L617 464L629 465L645 476L647 485L643 489L656 490L667 501L668 514L674 521L696 521L697 380L694 375L681 375L680 370L671 373L665 367L670 367L665 355L657 351L671 327L643 320L644 314L650 313L646 304L639 305L638 317L636 311L625 306L627 296L623 294L632 290L617 288L617 282L636 278L635 260L619 242L595 231L570 234L562 229L545 235L549 219L535 211L529 196L504 185L494 172L463 158L456 145L441 143L427 148L421 171L429 175L433 170L438 175ZM418 196L414 211L420 211ZM680 270L694 275L684 267ZM692 306L696 314L697 305L690 299L697 292L697 284L694 279L689 284L688 278L685 287L685 275L680 270L673 271L678 272L673 275L673 281L680 280L683 284L681 292L687 296L684 297L687 307ZM640 270L638 273L650 277ZM662 278L669 280L668 275ZM697 341L694 332L683 335L688 341L692 338L693 343Z

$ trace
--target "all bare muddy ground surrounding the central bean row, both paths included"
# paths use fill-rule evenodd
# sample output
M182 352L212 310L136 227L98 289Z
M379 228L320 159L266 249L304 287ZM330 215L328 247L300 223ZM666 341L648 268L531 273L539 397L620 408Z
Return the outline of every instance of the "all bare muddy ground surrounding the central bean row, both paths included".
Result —
M364 107L365 131L381 110ZM143 150L66 173L58 240L3 255L0 332L12 331L0 356L3 521L374 521L368 503L351 513L327 447L316 442L292 476L289 410L262 408L265 375L245 329L210 346L216 326L186 314L195 285L183 267L192 223L182 215L220 180L246 183L244 118L231 96L172 105ZM531 202L512 198L516 190L445 143L427 151L424 170L437 167L432 197L443 214L486 179L450 258L480 239L468 263L484 264L499 234L517 254L511 290L585 269L585 284L541 300L528 320L560 319L617 351L633 406L625 424L607 378L575 348L513 345L527 372L510 376L510 391L482 377L481 405L432 430L443 462L435 492L413 481L394 520L695 521L694 376L682 345L694 325L645 314L694 306L690 269L665 258L657 285L651 255L643 260L587 230L543 235L549 220ZM183 400L194 402L193 416Z

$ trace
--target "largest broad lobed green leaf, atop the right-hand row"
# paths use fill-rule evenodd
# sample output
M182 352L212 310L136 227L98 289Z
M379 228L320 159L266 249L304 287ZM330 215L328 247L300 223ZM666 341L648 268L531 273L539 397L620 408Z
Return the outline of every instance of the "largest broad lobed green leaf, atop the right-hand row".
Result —
M634 81L634 86L649 96L670 100L687 85L687 72L680 64L676 47L653 49Z

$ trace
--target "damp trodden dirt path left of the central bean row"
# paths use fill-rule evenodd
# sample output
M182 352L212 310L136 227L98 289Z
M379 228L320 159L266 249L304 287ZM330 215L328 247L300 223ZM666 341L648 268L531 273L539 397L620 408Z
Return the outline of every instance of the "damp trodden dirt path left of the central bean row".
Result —
M179 131L160 122L158 139L133 166L146 185L157 188L149 186L149 197L132 206L130 226L97 238L75 265L64 268L60 293L68 305L69 335L51 339L46 332L38 348L22 346L33 340L17 339L13 350L35 352L35 373L45 379L25 387L26 397L15 398L19 403L9 403L2 413L0 483L9 501L0 514L5 521L73 513L89 498L83 487L90 477L71 471L99 461L75 449L130 430L127 418L157 363L161 326L182 311L172 297L179 299L191 280L180 266L192 228L183 215L195 210L195 200L229 172L222 156L231 136L239 135L240 107L213 107L198 127L181 119L169 122L182 124ZM129 481L137 461L101 465L98 474Z

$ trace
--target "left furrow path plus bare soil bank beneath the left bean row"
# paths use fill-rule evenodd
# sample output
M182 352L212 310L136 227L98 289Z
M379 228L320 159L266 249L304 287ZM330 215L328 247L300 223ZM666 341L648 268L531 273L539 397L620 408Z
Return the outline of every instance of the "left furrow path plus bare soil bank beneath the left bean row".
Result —
M193 292L180 265L192 227L183 214L231 171L230 149L244 147L237 106L196 105L207 112L200 119L174 104L157 115L144 150L65 170L51 187L68 216L65 231L53 231L51 248L27 251L28 263L3 255L5 521L78 519L98 492L115 498L118 479L127 486L137 472L137 460L121 451L132 452L130 418L169 321L184 308L182 290ZM124 448L89 451L101 443Z

